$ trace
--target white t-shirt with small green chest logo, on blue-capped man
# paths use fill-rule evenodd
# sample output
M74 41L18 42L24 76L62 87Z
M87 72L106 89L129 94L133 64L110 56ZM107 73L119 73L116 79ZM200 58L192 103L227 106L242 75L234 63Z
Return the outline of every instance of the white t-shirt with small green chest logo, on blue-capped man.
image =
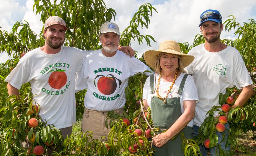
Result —
M206 113L219 106L219 93L225 94L226 88L238 89L253 84L240 53L228 46L219 52L209 52L204 44L192 48L189 55L194 61L185 69L195 80L199 102L196 104L194 124L200 126ZM215 112L215 116L218 112Z

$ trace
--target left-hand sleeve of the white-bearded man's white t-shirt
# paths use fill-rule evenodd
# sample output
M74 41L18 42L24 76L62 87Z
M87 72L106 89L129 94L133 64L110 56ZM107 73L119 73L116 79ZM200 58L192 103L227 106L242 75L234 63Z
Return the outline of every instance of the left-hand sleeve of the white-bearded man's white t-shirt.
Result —
M85 67L86 67L86 59L84 59L82 67L78 72L76 72L75 76L75 92L84 90L88 88L87 85L87 79L86 79L86 73L85 73Z

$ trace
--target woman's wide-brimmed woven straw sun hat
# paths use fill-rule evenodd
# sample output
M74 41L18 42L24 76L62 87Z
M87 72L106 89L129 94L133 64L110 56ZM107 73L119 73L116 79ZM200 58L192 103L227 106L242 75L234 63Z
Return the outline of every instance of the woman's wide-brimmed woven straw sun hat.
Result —
M145 52L144 59L147 65L149 65L151 68L155 68L157 56L160 53L168 53L181 56L181 63L184 67L188 66L194 60L194 56L180 52L180 46L176 41L167 40L159 45L159 50L147 50Z

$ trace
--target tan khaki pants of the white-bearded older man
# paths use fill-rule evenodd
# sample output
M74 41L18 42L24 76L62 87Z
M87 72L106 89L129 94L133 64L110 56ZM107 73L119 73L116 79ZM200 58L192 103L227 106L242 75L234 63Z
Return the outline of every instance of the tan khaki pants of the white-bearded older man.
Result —
M123 115L123 108L119 108L117 110L114 110L116 113ZM98 139L102 136L105 136L106 138L101 141L107 141L108 133L110 132L110 126L108 122L108 128L105 125L105 120L107 119L108 111L95 111L91 109L84 109L82 124L81 124L81 130L83 133L86 133L87 131L93 132L93 139Z

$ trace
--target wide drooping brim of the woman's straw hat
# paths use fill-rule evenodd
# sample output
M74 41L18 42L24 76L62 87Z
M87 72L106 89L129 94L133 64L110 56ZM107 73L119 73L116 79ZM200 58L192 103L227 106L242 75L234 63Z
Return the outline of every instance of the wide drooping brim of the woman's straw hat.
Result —
M157 56L160 53L168 53L168 54L172 54L172 55L179 55L181 56L181 62L182 65L184 67L187 67L193 60L194 60L194 56L192 55L187 55L187 54L183 54L181 52L175 51L175 50L147 50L144 54L144 60L147 63L148 66L150 66L151 68L155 68L156 66L156 60L157 60Z

